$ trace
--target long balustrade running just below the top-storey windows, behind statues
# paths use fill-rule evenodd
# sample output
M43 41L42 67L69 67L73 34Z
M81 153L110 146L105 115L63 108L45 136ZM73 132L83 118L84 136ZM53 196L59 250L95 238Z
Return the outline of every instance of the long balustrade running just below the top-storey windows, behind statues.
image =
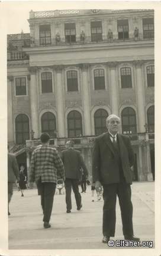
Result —
M77 37L76 40L69 40L66 38L60 38L60 40L56 39L40 39L40 40L30 40L30 47L37 47L37 46L61 46L61 45L83 45L88 43L121 43L121 42L136 42L141 40L153 40L154 39L154 33L149 33L149 35L146 34L146 36L143 33L139 33L138 37L134 37L134 34L129 34L128 38L118 38L117 35L112 35L112 38L110 39L109 36L85 36L85 38L82 39L82 37Z

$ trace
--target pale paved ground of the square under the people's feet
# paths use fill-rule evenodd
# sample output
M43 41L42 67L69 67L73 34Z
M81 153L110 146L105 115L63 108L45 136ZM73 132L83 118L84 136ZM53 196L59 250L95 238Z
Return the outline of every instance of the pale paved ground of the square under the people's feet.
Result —
M9 205L11 216L8 216L8 249L59 250L59 255L60 250L65 255L69 252L72 255L71 250L88 249L88 252L94 250L92 255L95 255L98 249L99 253L107 249L154 249L154 182L134 182L131 190L134 235L140 237L140 244L152 241L152 248L116 246L116 240L124 239L118 200L115 238L111 238L114 246L102 243L103 199L97 201L95 193L95 201L92 202L91 186L87 186L86 193L81 193L83 207L80 211L76 210L73 192L72 213L66 213L65 194L54 196L50 229L43 228L43 213L37 189L25 190L24 197L21 197L21 192L14 191Z

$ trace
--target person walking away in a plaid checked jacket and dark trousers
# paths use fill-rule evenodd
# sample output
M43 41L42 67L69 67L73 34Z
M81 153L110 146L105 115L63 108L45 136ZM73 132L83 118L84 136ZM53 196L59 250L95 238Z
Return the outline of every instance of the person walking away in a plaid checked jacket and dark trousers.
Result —
M44 228L51 227L49 221L53 208L54 193L56 191L57 174L65 180L65 170L62 160L55 148L49 146L50 135L42 133L41 146L38 146L31 157L31 170L29 182L33 186L36 182L41 196Z

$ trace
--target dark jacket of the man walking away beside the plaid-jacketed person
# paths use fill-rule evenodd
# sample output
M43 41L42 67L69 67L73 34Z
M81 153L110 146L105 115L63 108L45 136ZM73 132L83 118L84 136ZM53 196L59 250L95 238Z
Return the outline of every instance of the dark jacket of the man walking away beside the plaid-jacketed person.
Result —
M69 148L62 151L62 161L65 166L65 177L69 179L81 179L80 166L82 166L85 176L88 176L88 170L83 161L80 151Z

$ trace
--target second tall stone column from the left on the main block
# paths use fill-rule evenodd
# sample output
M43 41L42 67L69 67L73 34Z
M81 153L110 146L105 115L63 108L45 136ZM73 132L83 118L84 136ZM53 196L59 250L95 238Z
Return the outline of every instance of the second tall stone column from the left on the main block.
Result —
M65 137L65 108L62 80L63 65L55 65L53 68L56 70L57 136Z

